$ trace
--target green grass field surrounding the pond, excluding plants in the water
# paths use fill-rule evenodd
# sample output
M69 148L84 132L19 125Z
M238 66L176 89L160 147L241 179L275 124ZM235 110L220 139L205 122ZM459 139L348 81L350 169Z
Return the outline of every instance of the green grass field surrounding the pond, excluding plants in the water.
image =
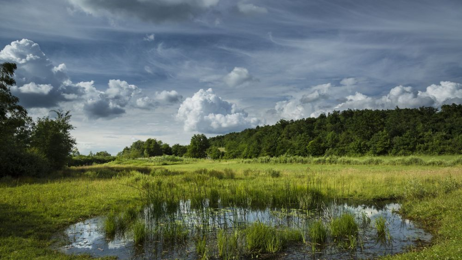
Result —
M456 156L419 158L423 161L458 159ZM387 157L383 160L396 159ZM356 200L398 199L403 203L402 213L431 230L434 239L426 248L385 259L462 257L460 165L273 164L243 163L240 160L170 163L174 164L158 166L158 161L116 161L68 169L47 179L3 178L0 180L0 258L88 259L89 256L56 252L52 248L59 240L56 234L85 218L106 215L110 210L118 211L130 205L139 206L142 203L139 192L126 185L161 180L175 183L185 190L194 189L192 180L206 176L199 174L200 169L209 169L204 189L212 189L214 185L246 185L258 191L268 186L282 187L286 183L291 183L295 189L310 182L323 196ZM113 170L115 167L119 169ZM212 169L216 171L210 171ZM226 169L232 169L233 173L220 175L226 173ZM280 175L275 178L271 175L273 173Z

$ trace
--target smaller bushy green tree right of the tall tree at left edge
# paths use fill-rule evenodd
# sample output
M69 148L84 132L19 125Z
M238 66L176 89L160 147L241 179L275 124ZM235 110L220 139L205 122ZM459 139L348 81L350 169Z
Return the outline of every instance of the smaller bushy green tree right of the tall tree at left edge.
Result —
M70 124L70 111L54 112L55 119L49 117L37 119L32 130L30 145L49 160L52 168L60 169L66 165L76 142L70 133L74 129Z

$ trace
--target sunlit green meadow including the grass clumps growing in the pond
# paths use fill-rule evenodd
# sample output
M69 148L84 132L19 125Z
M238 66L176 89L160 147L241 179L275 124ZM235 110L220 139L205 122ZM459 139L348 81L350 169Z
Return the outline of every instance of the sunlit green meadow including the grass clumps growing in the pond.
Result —
M0 180L0 258L88 259L89 255L67 255L56 250L57 244L65 244L58 234L70 224L97 216L105 217L108 237L130 229L136 244L156 234L171 244L194 240L196 258L202 259L284 252L292 242L316 249L326 240L334 241L342 235L354 237L358 232L355 225L361 223L345 214L329 224L309 223L300 232L255 222L215 229L210 239L202 230L204 224L201 230L191 232L185 229L184 222L168 222L170 219L159 214L162 223L170 224L153 231L139 216L176 211L185 201L196 210L210 204L309 210L320 201L348 200L398 202L400 214L432 233L430 244L385 259L460 259L460 157L302 159L212 161L154 157L71 167L40 179L5 177ZM387 235L383 219L377 218L371 225L377 235ZM267 237L273 239L262 239Z

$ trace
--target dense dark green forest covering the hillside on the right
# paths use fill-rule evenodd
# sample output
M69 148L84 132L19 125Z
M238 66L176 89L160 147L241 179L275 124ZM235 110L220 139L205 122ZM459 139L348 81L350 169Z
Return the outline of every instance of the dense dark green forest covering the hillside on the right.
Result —
M224 158L442 155L462 151L462 105L334 111L209 139Z

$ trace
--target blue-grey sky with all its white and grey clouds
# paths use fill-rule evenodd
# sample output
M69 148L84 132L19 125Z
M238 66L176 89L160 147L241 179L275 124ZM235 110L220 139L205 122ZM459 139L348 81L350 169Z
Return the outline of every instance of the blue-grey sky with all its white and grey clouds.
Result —
M82 154L462 103L460 0L1 0L0 62Z

